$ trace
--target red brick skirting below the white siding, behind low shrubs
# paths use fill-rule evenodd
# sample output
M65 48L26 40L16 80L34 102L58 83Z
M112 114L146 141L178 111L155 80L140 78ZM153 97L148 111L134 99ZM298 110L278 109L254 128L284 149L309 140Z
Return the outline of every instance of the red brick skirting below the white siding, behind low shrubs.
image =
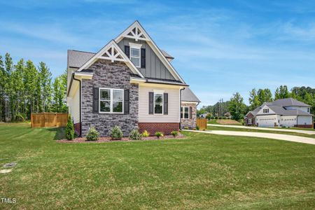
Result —
M147 130L151 136L155 135L155 132L162 132L165 135L171 134L172 131L179 131L179 123L138 123L139 132Z

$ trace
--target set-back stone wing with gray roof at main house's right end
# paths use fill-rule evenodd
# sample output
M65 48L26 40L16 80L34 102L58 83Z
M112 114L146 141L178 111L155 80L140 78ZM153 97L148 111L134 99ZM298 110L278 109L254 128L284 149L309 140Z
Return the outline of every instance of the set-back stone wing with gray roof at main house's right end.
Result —
M181 90L181 128L184 127L194 128L196 127L197 119L197 106L200 103L200 99L189 89Z

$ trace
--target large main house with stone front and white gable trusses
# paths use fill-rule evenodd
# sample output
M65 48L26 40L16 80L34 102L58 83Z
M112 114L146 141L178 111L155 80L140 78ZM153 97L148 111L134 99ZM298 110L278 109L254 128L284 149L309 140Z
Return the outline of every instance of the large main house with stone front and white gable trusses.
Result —
M67 105L76 132L95 127L109 136L118 125L125 136L139 128L170 134L181 123L181 92L187 103L183 123L195 126L199 102L170 61L138 21L99 52L68 50ZM186 98L185 92L189 92ZM192 95L194 97L192 97Z

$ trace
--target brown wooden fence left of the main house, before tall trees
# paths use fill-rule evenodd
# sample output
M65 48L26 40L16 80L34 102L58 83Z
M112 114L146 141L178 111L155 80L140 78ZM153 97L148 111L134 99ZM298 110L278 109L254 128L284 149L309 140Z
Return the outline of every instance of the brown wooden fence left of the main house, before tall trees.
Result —
M32 113L31 127L64 127L67 120L67 113Z

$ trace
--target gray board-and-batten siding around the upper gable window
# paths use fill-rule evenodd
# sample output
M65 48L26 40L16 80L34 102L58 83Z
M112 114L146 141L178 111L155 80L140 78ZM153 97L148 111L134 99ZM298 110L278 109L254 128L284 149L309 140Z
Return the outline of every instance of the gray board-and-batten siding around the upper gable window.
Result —
M144 76L146 76L147 78L163 78L175 80L174 76L169 73L169 70L161 62L158 56L155 55L155 52L146 43L146 41L134 41L134 39L132 38L123 38L123 40L118 43L118 46L125 52L125 45L129 45L129 43L139 43L142 45L141 48L146 49L146 68L138 68Z

